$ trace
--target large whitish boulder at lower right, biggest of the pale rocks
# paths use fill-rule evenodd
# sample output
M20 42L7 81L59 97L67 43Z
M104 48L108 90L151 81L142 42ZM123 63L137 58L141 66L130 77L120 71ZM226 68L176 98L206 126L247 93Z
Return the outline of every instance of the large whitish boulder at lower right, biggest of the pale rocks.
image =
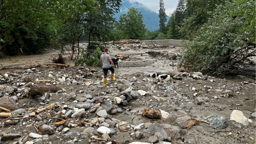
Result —
M243 124L244 126L249 125L249 119L246 118L243 112L241 112L240 110L233 110L230 115L230 120L234 120L237 123Z

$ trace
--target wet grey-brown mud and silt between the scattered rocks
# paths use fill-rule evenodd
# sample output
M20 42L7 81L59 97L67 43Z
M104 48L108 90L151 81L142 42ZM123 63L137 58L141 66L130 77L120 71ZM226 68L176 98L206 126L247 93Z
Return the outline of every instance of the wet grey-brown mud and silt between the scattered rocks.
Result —
M119 68L115 68L115 74L116 74L116 81L114 82L108 82L107 87L94 88L92 90L92 87L87 87L82 84L58 84L60 88L63 88L67 91L67 93L75 92L77 94L76 99L81 97L81 95L86 94L86 92L90 91L90 95L92 95L93 99L97 100L99 96L109 96L108 101L111 101L114 99L114 93L117 92L116 90L116 84L120 83L119 81L122 79L121 77L126 77L127 80L133 79L135 77L137 79L137 82L133 83L134 91L143 90L143 91L151 91L152 95L146 95L146 96L139 96L137 100L131 100L129 102L129 106L131 106L130 111L137 110L137 111L144 111L144 108L150 108L155 110L164 110L165 112L171 113L175 108L182 108L186 113L188 113L192 119L198 118L201 116L207 116L207 115L220 115L226 118L227 120L227 127L225 129L213 129L210 126L203 126L203 124L194 125L189 128L184 129L186 131L186 134L182 136L184 138L183 140L177 140L177 141L171 141L172 143L191 143L191 144L198 144L198 143L207 143L207 144L232 144L232 143L248 143L253 144L256 143L256 130L255 130L255 122L252 120L252 123L248 126L244 126L243 128L238 128L232 122L229 120L230 114L233 110L240 110L243 112L244 116L246 118L250 118L251 112L256 108L256 104L254 102L256 97L256 87L252 84L244 85L244 81L250 81L250 78L247 77L239 77L239 76L224 76L224 77L216 77L216 78L209 78L214 80L213 82L209 80L194 80L194 79L188 79L188 77L183 76L182 80L175 80L175 88L172 88L172 84L169 86L167 83L164 84L163 87L159 87L160 84L155 84L155 80L152 77L146 76L144 74L150 74L153 73L163 73L167 74L170 70L177 70L178 66L178 60L168 60L166 58L162 57L151 57L149 55L141 56L141 54L145 54L145 52L148 52L152 49L147 48L141 48L141 49L129 49L126 51L121 51L118 49L110 48L110 55L111 58L115 55L129 55L130 60L123 60L118 63ZM157 49L154 51L168 51L168 52L179 52L179 48L174 49ZM31 55L31 56L13 56L13 57L7 57L3 60L0 60L0 64L4 65L5 67L19 67L19 68L12 68L7 70L1 70L1 75L4 75L6 72L12 72L20 70L20 71L26 71L26 69L20 69L20 67L29 67L32 65L37 65L38 63L50 63L52 55L57 55L58 51L49 49L47 52L41 55ZM68 57L68 52L64 55ZM71 67L74 66L74 61L67 61L67 64L69 64ZM171 66L170 66L171 65ZM84 67L85 68L85 67ZM89 69L94 68L97 70L95 75L102 75L101 68L97 67L87 67ZM77 67L78 69L78 67ZM60 76L56 76L58 72L60 72L59 75L66 74L75 76L77 75L76 71L77 69L72 70L65 70L65 69L51 69L51 68L41 68L39 69L42 73L36 74L40 78L44 79L51 79L48 77L47 71L52 71L52 76L54 78L61 78ZM82 69L81 69L82 70ZM143 81L143 79L147 77L148 81ZM110 78L108 76L108 78ZM91 77L92 81L97 82L101 81L102 78L97 77ZM77 80L79 81L79 80ZM102 83L101 83L102 84ZM11 84L7 84L8 86L11 86ZM94 85L94 84L93 84ZM211 91L208 91L207 87L211 87ZM192 88L198 89L197 93L201 93L201 95L196 95L195 90L192 90ZM111 93L102 93L106 92L107 90L110 90ZM219 97L220 93L231 90L234 95L232 96L224 96ZM81 92L83 91L83 92ZM200 92L199 92L200 91ZM162 97L164 100L156 100L152 98L152 96ZM194 100L196 97L207 97L207 102L202 105L197 105ZM217 98L216 98L217 97ZM245 100L245 98L248 98ZM62 102L65 101L65 105L73 106L75 107L77 105L76 102L65 100L65 97L63 97L63 94L52 94L52 99L49 104L55 103L55 102ZM157 102L159 105L151 106L152 102ZM39 104L39 101L37 101L37 97L34 98L26 98L26 99L20 99L18 102L19 108L24 108L25 110L28 110L28 108L38 108L41 105ZM24 106L23 104L27 104ZM79 103L79 102L78 102ZM120 108L122 106L119 106ZM90 109L86 110L88 112ZM165 118L152 120L148 117L142 117L141 115L132 114L132 115L126 115L124 114L125 109L123 109L122 113L116 113L114 115L111 115L112 118L118 119L120 121L126 121L132 125L138 125L141 123L159 123L164 124L168 123L168 120ZM90 113L88 112L87 117L84 116L84 119L92 119L96 116L96 113ZM14 124L10 126L5 126L4 122L0 121L0 129L2 131L2 134L4 133L20 133L23 137L28 136L30 132L35 132L40 134L40 132L37 132L35 127L26 127L27 124L29 124L29 121L25 121L26 124ZM37 122L37 123L47 123L47 121ZM203 122L202 122L203 123ZM50 125L50 124L49 124ZM86 125L88 126L88 125ZM85 127L70 127L70 131L77 131L79 133L83 132ZM94 126L95 127L95 126ZM217 130L214 132L214 130ZM141 131L142 132L142 131ZM232 134L230 134L230 132ZM112 139L117 140L119 142L124 143L130 143L130 142L148 142L148 138L151 137L151 134L143 133L144 138L141 139L134 139L131 138L130 134L128 132L119 131L117 130L117 133L111 136ZM37 143L49 143L50 141L53 144L57 143L70 143L69 140L73 140L77 138L78 140L81 140L81 142L76 143L91 143L88 142L89 137L80 135L71 135L68 137L63 136L62 134L57 134L55 132L52 135L49 135L49 140L43 140L35 142ZM33 138L30 138L30 141L34 140ZM129 140L129 141L125 141ZM17 141L17 140L16 140ZM12 141L2 141L3 143L12 143Z

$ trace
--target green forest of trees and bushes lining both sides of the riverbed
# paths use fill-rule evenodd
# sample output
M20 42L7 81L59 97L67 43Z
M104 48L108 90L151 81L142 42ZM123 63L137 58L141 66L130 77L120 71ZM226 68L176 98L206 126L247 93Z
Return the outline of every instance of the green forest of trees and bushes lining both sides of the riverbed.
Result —
M143 15L131 8L120 20L122 0L1 0L0 57L29 55L47 47L65 51L71 57L78 41L88 41L83 59L102 51L97 42L121 39L189 40L180 65L196 71L218 71L255 56L256 2L254 0L179 0L165 24L164 1L159 1L159 26L149 31ZM97 58L96 58L97 59ZM78 60L79 61L79 60Z

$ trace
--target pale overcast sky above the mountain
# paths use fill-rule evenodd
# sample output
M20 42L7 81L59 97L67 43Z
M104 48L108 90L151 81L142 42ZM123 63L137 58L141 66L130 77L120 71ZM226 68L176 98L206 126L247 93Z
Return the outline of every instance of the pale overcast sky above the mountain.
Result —
M144 4L149 9L155 11L158 13L159 11L159 0L130 0L130 1L136 1L139 3ZM164 8L166 15L170 15L175 9L178 4L178 0L164 0Z

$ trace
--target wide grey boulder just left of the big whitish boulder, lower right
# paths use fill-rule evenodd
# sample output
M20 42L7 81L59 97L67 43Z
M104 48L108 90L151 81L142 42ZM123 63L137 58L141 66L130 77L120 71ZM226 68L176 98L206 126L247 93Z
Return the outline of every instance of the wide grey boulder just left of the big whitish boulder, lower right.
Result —
M209 115L209 116L202 116L199 119L207 121L210 123L212 128L216 129L224 129L227 127L227 120L225 117L220 115ZM209 124L205 123L204 125L210 126Z

